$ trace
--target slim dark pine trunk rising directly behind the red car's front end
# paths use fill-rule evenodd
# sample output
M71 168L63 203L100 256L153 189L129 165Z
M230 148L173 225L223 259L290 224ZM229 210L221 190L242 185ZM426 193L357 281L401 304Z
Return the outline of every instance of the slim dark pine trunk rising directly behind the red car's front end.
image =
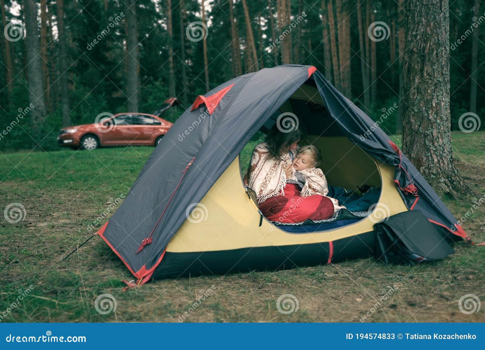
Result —
M67 57L66 57L66 43L65 43L65 24L64 24L64 0L57 0L57 32L59 40L59 87L61 95L61 113L63 126L71 125L71 117L69 115L69 90L67 84Z

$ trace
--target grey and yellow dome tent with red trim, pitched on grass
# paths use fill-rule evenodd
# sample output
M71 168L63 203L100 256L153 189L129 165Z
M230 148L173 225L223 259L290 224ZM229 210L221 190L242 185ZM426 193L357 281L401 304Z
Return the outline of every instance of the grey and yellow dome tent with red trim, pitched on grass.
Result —
M249 196L239 153L259 129L288 111L307 126L308 140L322 149L321 167L329 184L380 186L374 212L383 218L420 210L447 240L469 240L378 125L315 67L282 65L236 77L197 96L98 231L137 284L150 278L309 266L374 253L371 216L295 234L266 220Z

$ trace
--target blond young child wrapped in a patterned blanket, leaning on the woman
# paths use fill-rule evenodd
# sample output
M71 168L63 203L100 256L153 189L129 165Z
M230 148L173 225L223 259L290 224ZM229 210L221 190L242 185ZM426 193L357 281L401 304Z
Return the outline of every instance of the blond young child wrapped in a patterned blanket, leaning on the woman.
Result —
M322 162L322 153L313 145L303 146L298 150L293 158L292 174L287 183L294 183L300 187L300 196L321 195L328 197L327 180L323 171L317 168ZM338 211L344 206L339 206L339 201L328 197L334 204L334 211Z

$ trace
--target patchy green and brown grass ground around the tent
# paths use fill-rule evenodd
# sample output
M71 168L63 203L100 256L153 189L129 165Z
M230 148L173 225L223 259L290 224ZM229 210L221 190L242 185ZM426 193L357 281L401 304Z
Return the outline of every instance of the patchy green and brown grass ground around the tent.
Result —
M453 132L456 165L482 194L484 140L484 132ZM250 148L242 152L244 160ZM99 216L111 216L116 198L128 193L152 151L129 147L0 154L0 209L20 203L26 212L18 223L0 222L1 322L177 322L185 312L186 322L358 322L390 288L394 292L367 322L485 321L483 307L470 315L458 309L464 294L485 301L485 249L467 243L454 244L455 253L446 259L415 267L386 266L370 258L287 271L166 279L126 292L121 292L121 280L132 279L131 274L98 237L59 261L92 234L91 226L104 223ZM473 199L445 203L457 218L473 210L463 226L474 241L483 242L485 209L472 208ZM211 286L213 293L194 307L201 289ZM115 311L97 312L101 294L115 298ZM298 310L278 312L282 294L294 295Z

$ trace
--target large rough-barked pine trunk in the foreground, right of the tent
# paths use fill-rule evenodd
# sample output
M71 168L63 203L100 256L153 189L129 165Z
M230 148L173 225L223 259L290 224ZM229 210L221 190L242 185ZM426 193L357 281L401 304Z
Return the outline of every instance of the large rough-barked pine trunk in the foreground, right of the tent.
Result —
M453 164L448 0L406 4L403 149L438 196L470 189Z

